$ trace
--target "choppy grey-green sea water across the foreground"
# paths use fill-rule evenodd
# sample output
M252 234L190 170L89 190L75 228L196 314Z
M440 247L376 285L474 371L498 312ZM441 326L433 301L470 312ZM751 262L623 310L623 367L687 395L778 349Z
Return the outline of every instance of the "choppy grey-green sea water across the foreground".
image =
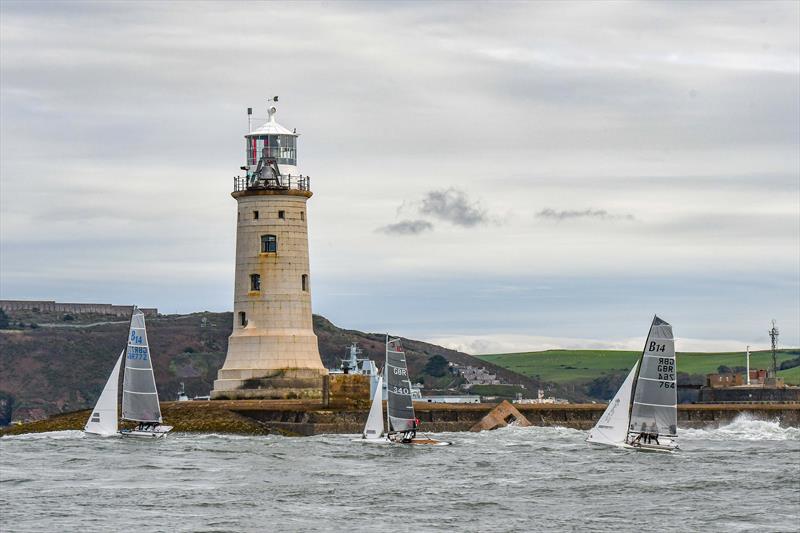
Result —
M77 431L0 439L5 531L796 531L800 430L737 419L682 451L584 443L586 432L443 434L451 447L350 436Z

